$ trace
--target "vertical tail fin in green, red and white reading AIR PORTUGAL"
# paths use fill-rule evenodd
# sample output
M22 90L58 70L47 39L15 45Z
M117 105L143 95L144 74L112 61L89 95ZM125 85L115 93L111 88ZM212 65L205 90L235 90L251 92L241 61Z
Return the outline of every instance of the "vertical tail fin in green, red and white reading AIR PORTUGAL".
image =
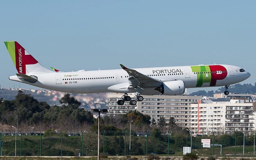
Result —
M19 74L49 73L32 55L30 55L18 42L4 42Z

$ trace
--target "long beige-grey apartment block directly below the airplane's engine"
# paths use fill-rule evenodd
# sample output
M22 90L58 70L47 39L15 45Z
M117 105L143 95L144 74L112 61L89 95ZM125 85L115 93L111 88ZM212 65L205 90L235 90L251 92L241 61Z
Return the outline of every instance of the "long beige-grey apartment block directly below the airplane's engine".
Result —
M197 129L197 110L191 104L197 104L201 96L143 96L137 103L138 111L147 114L158 122L163 116L166 123L174 117L176 124L182 127ZM192 127L193 126L193 127Z

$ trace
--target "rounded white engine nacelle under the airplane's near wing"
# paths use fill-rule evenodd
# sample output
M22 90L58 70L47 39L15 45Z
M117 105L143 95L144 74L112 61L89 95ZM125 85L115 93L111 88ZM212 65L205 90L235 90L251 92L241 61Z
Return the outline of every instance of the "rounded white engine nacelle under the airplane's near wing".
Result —
M182 95L185 92L185 85L182 80L167 81L163 82L163 84L155 90L161 92L162 95Z

